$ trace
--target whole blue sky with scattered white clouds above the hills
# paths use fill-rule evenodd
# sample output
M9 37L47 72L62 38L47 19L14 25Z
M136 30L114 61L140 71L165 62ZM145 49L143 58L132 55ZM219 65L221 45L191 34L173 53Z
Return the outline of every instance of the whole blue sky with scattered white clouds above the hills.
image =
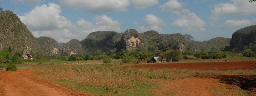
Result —
M136 29L189 34L196 41L232 34L256 23L249 0L0 0L35 37L83 40L95 31Z

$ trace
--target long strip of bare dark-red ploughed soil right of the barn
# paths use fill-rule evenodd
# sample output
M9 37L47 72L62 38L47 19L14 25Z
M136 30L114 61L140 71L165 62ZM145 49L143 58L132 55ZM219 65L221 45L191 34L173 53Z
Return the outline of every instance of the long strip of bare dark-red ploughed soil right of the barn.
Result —
M171 64L140 64L124 66L121 68L176 68L195 70L233 70L233 69L256 69L256 61L234 61L234 62L199 62L199 63L171 63Z

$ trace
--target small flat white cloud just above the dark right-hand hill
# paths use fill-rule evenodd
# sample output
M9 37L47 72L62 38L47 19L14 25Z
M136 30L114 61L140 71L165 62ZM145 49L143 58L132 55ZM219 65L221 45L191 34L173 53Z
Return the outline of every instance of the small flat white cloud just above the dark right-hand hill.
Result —
M226 27L237 27L237 26L247 26L252 24L251 20L226 20L225 26Z

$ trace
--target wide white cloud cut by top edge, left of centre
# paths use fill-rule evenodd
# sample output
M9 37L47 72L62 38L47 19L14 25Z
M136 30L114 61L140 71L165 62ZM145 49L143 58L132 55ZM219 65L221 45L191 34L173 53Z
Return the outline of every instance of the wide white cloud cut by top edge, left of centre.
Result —
M123 12L130 6L130 0L59 0L59 4L83 12Z

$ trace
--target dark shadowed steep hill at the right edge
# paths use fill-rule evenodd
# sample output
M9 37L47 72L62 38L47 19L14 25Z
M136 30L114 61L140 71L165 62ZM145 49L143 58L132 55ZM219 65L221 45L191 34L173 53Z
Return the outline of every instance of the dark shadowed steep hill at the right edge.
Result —
M256 41L256 25L241 28L233 33L229 43L229 49L253 49L256 48L256 46L251 46L250 44L254 44L254 41Z

